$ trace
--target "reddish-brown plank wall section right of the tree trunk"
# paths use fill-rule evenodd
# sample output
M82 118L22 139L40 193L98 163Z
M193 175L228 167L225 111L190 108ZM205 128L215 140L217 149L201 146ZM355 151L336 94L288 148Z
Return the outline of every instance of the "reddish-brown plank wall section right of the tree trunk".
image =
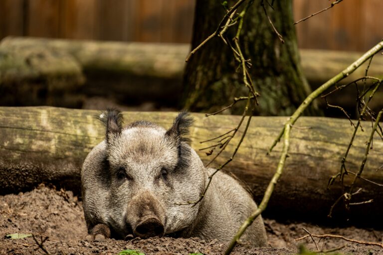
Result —
M294 0L295 20L332 0ZM383 0L347 0L298 23L301 48L366 51L383 39Z

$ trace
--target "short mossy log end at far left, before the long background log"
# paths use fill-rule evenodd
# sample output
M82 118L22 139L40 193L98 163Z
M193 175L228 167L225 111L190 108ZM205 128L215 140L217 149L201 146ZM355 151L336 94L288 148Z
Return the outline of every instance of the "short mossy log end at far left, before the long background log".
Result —
M65 52L33 47L0 47L1 105L80 107L85 82L81 65Z

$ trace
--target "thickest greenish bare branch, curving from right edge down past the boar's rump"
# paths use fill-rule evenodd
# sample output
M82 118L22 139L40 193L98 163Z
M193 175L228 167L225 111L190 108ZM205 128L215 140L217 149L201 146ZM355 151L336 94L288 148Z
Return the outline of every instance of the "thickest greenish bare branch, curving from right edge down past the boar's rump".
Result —
M234 249L235 245L237 244L239 238L242 236L242 234L245 232L247 227L249 227L255 218L257 218L267 207L267 203L270 200L271 194L273 193L274 187L277 184L277 181L279 180L280 176L283 173L283 167L285 164L285 160L287 157L287 153L289 151L290 146L290 130L291 126L295 124L297 119L301 116L301 114L305 111L305 109L316 99L321 95L324 91L326 91L328 88L339 82L340 80L344 79L345 77L349 76L352 72L354 72L359 66L361 66L364 62L366 62L367 59L369 59L371 56L379 52L383 49L383 41L375 45L373 48L371 48L368 52L366 52L362 57L360 57L357 61L352 63L350 66L348 66L345 70L343 70L338 75L334 76L332 79L324 83L322 86L320 86L318 89L316 89L314 92L312 92L304 101L303 103L298 107L298 109L294 112L294 114L289 118L289 120L286 122L283 128L283 148L282 153L278 162L278 166L276 169L276 172L274 176L272 177L269 185L266 188L266 191L264 193L262 202L260 203L257 210L255 210L242 224L242 226L239 228L238 232L235 234L233 239L231 240L227 250L225 251L225 255L229 255L231 251ZM278 135L274 143L282 137L282 135ZM273 145L274 145L273 143ZM275 146L275 145L274 145ZM270 149L271 150L271 149ZM269 150L269 151L270 151Z

